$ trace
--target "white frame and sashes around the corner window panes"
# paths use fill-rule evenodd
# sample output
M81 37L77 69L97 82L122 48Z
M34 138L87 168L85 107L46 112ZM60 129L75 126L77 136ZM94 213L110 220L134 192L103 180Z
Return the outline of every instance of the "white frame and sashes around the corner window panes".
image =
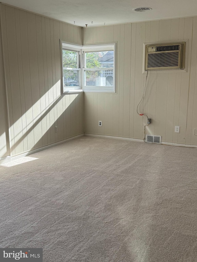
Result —
M62 50L77 51L79 54L79 68L71 68L71 70L79 71L79 86L78 87L64 87L63 81L63 62ZM85 68L85 53L86 52L99 52L99 51L114 51L114 67L107 68ZM77 45L66 41L60 40L60 54L61 54L61 86L62 94L75 94L80 92L95 92L95 93L115 93L116 92L116 43L107 44L92 44L92 45ZM81 68L81 65L83 68ZM70 70L70 69L69 69ZM84 74L85 71L106 71L113 70L113 86L85 86Z

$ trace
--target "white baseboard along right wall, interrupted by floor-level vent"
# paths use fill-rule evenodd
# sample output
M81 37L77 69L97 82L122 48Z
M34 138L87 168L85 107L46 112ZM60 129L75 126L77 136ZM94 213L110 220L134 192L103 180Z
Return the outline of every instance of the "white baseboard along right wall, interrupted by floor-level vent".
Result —
M110 135L93 135L93 134L84 134L85 136L92 136L92 137L102 137L102 138L112 138L112 139L122 139L122 140L128 140L128 141L135 141L135 142L144 142L143 139L136 139L136 138L127 138L127 137L119 137L119 136L110 136ZM178 143L168 143L168 142L161 142L163 145L168 146L175 146L175 147L190 147L190 148L196 148L195 145L186 145L186 144L178 144Z

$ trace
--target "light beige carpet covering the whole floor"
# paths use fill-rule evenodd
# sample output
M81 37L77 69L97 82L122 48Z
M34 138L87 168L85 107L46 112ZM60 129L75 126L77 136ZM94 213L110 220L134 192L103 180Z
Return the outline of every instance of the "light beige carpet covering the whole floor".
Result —
M0 247L43 248L44 262L196 262L196 155L84 136L0 166Z

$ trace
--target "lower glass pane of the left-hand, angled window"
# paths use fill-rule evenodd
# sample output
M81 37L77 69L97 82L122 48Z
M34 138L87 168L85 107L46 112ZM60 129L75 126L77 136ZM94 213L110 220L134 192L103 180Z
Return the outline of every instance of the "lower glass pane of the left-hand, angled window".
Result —
M79 71L64 69L64 87L79 86Z

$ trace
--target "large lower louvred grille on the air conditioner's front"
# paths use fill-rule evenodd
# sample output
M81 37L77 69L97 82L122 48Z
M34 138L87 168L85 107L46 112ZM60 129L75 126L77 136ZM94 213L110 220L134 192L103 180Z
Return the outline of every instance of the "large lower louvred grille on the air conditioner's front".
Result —
M148 53L147 68L179 66L179 52Z

